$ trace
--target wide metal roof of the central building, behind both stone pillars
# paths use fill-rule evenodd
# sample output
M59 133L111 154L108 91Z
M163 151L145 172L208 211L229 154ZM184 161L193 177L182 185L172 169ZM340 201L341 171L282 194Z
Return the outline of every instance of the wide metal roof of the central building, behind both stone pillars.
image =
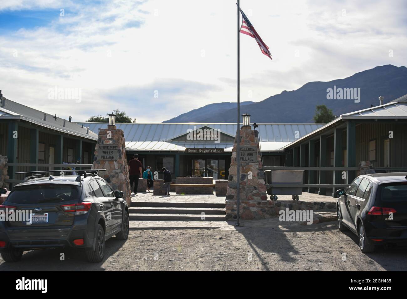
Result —
M78 122L98 133L98 129L107 128L107 123ZM279 151L283 146L295 140L295 131L302 137L324 126L324 124L258 124L260 147L262 151ZM221 133L234 137L237 124L223 123L118 123L117 129L124 131L126 147L134 151L185 151L185 148L224 148L232 151L233 142L193 142L173 141L176 137L201 127L219 129Z

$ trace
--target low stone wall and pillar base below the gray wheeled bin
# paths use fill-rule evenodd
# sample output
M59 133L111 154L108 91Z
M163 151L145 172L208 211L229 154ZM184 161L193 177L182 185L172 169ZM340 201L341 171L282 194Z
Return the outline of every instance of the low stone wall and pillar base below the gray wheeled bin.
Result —
M336 210L336 204L332 202L309 202L309 201L240 201L240 216L242 219L262 219L280 216L280 210L313 210L329 211ZM226 218L236 219L236 203L226 205Z

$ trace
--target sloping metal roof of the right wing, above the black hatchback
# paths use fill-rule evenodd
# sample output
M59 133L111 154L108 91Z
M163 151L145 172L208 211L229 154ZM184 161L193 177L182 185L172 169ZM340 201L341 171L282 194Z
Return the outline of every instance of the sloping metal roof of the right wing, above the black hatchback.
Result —
M341 118L342 119L407 118L407 94L384 105L342 114Z

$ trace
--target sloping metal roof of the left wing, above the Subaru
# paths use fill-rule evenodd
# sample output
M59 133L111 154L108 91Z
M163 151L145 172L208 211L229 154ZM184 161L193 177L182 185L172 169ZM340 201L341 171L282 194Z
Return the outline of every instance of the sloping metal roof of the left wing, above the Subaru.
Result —
M4 108L3 104L5 105ZM46 120L44 120L44 114L47 115ZM97 140L98 138L98 135L91 130L87 132L85 126L81 127L80 124L66 120L65 127L63 127L63 118L57 117L55 120L55 116L51 114L35 110L4 97L2 97L2 102L0 104L0 120L1 119L20 119L65 134L75 135L90 140Z

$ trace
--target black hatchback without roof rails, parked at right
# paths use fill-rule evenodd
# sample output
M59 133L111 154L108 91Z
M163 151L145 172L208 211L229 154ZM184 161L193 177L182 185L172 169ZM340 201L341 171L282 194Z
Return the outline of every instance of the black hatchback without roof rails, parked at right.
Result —
M407 246L407 173L360 175L336 193L339 230L357 234L362 252Z

